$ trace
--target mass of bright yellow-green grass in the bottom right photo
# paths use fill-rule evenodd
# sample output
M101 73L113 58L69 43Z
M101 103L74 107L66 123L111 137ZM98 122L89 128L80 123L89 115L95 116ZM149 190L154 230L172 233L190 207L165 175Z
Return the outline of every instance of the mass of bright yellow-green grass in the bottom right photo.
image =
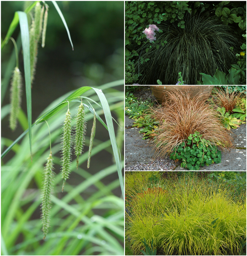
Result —
M156 193L136 193L127 202L126 237L136 254L145 249L144 238L149 246L153 239L161 255L240 254L246 199L233 202L229 188L196 177L159 185Z

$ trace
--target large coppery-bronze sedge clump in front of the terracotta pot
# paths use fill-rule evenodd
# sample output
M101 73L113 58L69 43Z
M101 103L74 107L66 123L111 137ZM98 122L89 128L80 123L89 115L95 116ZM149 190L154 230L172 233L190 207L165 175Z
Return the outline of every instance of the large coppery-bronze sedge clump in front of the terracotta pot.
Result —
M159 109L152 108L153 117L159 121L154 139L159 155L164 156L183 141L186 144L189 134L195 131L212 145L222 149L232 147L229 131L220 123L217 111L207 103L205 93L193 99L188 92L181 94L178 90L167 92L167 95L169 101Z

